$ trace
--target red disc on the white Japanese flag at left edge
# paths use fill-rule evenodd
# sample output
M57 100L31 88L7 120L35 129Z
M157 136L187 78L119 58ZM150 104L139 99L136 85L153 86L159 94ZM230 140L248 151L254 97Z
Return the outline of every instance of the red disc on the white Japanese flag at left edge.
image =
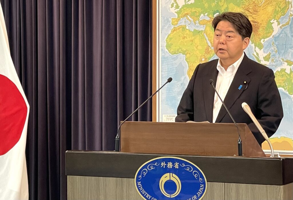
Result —
M0 156L21 137L28 107L16 85L0 74Z

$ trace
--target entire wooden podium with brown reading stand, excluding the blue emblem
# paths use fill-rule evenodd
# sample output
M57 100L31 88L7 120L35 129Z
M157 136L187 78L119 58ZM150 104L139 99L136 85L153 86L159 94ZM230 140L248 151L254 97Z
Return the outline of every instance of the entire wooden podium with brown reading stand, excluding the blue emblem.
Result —
M246 124L125 122L121 152L67 151L67 199L138 200L134 176L145 162L175 156L205 174L202 200L293 200L293 158L265 157ZM114 141L113 141L114 142Z

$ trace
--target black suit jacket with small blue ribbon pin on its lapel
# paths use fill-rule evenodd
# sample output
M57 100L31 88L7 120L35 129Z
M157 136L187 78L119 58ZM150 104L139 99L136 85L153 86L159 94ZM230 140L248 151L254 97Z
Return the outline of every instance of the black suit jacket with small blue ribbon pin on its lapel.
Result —
M209 79L213 79L216 84L217 63L218 60L212 60L197 65L180 100L176 122L212 122L215 91ZM246 89L244 81L247 83ZM239 90L240 85L243 87ZM268 136L272 136L283 118L282 102L275 75L271 69L249 59L246 55L239 65L224 103L236 123L246 123L258 143L261 144L265 139L243 111L241 106L243 102L250 106L252 113ZM233 123L223 105L215 123Z

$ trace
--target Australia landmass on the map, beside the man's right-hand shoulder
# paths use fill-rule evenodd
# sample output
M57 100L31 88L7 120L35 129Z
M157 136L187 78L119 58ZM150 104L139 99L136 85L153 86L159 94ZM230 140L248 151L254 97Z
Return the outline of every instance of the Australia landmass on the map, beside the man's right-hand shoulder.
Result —
M293 95L293 72L291 68L289 73L286 72L286 69L276 71L275 81L279 88L283 88L288 94Z

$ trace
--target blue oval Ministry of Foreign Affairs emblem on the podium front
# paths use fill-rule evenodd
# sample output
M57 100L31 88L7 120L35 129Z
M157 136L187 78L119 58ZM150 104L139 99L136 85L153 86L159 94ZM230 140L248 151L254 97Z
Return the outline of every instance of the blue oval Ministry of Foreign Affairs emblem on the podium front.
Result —
M134 180L137 192L146 200L199 200L207 189L202 171L178 157L149 160L139 167Z

